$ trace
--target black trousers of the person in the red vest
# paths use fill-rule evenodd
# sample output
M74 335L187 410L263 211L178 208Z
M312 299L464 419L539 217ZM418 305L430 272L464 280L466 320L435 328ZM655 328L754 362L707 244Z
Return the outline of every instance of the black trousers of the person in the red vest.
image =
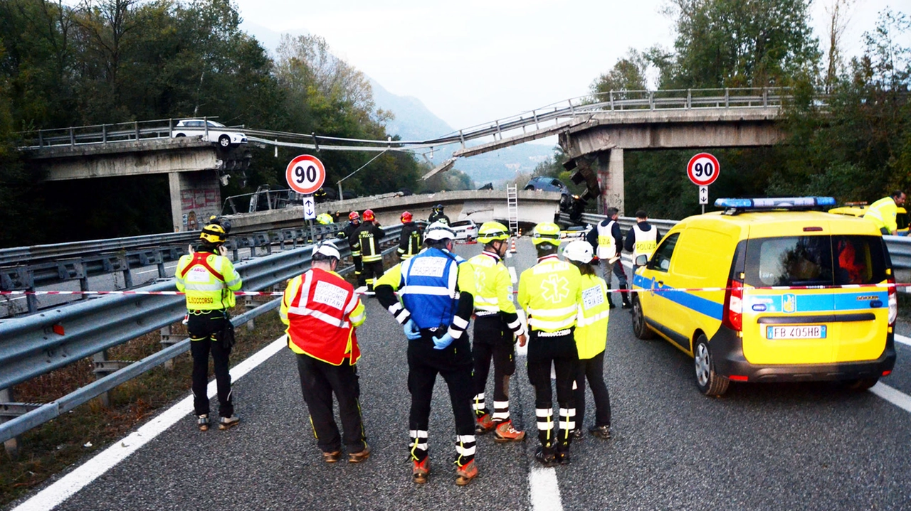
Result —
M310 410L310 422L316 443L324 453L342 447L342 436L333 416L333 394L339 402L339 417L344 429L344 446L348 453L359 453L367 445L361 417L361 386L357 367L345 359L333 366L312 356L297 354L297 372L301 376L303 400Z

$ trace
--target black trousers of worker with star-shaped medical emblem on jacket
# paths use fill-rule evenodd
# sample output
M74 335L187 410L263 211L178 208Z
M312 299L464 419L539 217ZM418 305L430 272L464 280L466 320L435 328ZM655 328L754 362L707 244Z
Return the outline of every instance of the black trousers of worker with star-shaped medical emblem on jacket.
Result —
M550 386L550 368L553 366L557 373L557 402L561 409L568 410L570 416L561 416L560 421L573 420L576 408L576 396L573 395L572 384L576 379L576 366L578 366L578 350L576 339L573 338L572 328L563 336L540 336L541 332L531 331L528 338L528 381L535 387L535 409L537 416L537 438L545 447L553 446L555 441L558 447L568 448L572 441L571 431L559 431L556 427L548 427L552 418L541 416L544 411L552 410L554 406L553 390ZM569 429L575 429L571 427Z

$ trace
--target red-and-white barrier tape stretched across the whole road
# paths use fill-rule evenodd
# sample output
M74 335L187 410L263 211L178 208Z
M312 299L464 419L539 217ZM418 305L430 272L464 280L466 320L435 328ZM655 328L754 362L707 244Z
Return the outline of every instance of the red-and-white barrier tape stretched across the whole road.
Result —
M911 287L911 283L884 283L884 284L839 284L834 286L757 286L757 287L640 287L633 289L608 289L608 293L693 293L693 292L719 292L719 291L796 291L813 289L890 289L898 287ZM282 296L283 291L234 291L234 296ZM369 291L357 291L364 295ZM518 291L513 291L517 294ZM48 296L48 295L149 295L149 296L183 296L183 291L0 291L0 296Z

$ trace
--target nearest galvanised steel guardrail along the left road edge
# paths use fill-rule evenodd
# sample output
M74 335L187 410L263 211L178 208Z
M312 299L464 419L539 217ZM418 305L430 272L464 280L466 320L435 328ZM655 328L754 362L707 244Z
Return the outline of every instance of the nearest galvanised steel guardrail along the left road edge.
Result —
M384 243L394 242L402 225L385 227ZM343 256L350 255L347 240L338 243ZM397 246L384 250L392 253ZM246 290L260 290L299 275L310 267L311 246L268 255L238 264ZM350 267L343 271L350 271ZM141 291L173 291L174 283L159 283ZM240 326L274 309L278 300L232 318ZM105 296L87 303L26 316L0 324L0 389L67 366L138 336L169 326L185 314L183 296ZM189 351L189 339L124 367L93 384L79 388L52 403L0 424L0 442L66 413L111 388L165 361Z

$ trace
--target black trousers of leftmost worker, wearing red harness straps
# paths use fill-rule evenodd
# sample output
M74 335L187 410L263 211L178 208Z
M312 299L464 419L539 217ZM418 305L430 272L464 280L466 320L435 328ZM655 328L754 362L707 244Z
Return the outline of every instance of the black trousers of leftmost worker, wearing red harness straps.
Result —
M219 388L219 416L234 415L234 403L230 391L230 347L221 346L216 335L221 332L224 322L229 321L224 310L190 311L187 322L189 332L189 353L193 356L193 408L196 415L209 414L209 354L215 363L215 382Z

